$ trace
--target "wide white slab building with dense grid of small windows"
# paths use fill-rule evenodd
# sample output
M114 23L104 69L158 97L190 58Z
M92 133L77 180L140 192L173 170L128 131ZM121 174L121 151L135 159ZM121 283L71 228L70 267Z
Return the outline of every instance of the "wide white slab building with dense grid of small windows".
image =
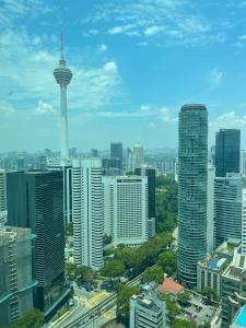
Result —
M104 233L112 244L140 246L148 241L148 177L104 176Z

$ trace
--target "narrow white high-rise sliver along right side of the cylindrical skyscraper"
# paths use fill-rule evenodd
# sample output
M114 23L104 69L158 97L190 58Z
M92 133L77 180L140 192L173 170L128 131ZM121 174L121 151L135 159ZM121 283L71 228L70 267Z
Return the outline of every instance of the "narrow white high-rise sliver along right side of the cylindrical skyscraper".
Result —
M214 202L214 178L215 167L212 164L208 165L208 202L207 202L207 247L208 253L213 251L213 202Z

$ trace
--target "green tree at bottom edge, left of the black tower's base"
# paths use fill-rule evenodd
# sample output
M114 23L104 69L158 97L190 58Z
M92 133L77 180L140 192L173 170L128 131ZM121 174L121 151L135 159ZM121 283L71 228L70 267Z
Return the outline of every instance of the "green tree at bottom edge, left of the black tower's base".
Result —
M20 318L14 325L14 328L40 328L45 324L43 313L33 308L27 312L22 318Z

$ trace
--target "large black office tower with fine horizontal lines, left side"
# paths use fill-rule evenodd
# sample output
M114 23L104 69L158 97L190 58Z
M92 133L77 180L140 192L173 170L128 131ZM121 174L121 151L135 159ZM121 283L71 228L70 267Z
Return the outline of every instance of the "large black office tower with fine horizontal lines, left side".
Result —
M34 306L46 319L69 297L65 286L65 229L62 172L7 174L8 224L36 234L33 277L38 281Z

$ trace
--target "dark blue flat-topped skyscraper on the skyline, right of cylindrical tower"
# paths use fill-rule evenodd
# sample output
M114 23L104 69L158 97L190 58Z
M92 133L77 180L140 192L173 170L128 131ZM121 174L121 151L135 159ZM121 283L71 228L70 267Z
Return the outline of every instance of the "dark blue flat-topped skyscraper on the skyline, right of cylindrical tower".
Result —
M241 130L220 129L215 138L215 176L239 173Z

